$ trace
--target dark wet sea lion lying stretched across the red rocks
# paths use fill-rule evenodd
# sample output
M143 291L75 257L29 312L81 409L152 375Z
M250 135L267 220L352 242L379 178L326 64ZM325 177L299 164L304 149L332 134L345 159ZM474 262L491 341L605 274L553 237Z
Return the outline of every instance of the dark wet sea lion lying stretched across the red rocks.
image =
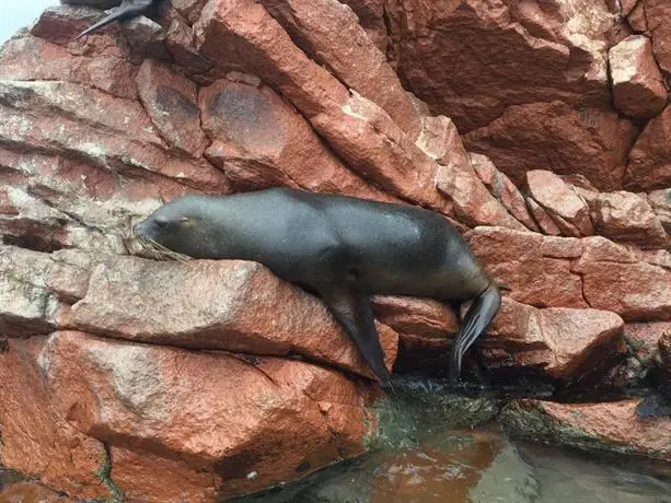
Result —
M193 258L257 261L317 294L389 387L369 295L473 301L454 339L452 383L464 352L501 302L498 286L448 220L412 206L289 188L183 196L134 233Z

